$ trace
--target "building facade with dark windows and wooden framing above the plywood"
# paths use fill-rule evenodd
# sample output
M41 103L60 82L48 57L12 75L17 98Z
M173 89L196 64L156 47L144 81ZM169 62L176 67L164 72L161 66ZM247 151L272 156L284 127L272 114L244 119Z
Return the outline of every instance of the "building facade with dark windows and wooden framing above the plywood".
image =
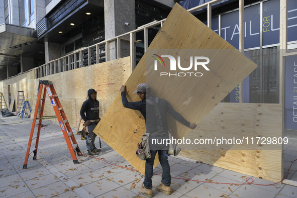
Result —
M39 78L125 56L135 67L175 3L0 0L0 80L34 68ZM207 7L190 12L258 65L222 102L282 104L284 131L297 136L297 2L178 3L187 10L211 3L210 17Z

